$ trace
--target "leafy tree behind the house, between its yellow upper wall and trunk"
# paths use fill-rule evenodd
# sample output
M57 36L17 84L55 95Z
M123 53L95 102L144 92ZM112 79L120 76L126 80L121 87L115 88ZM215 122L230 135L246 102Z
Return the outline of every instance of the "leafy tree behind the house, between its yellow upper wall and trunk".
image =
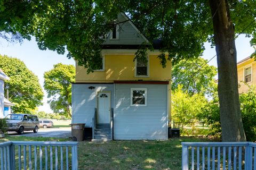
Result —
M217 68L210 66L202 57L193 60L181 60L172 67L172 91L182 84L182 91L189 95L203 94L212 96L217 90L214 77Z

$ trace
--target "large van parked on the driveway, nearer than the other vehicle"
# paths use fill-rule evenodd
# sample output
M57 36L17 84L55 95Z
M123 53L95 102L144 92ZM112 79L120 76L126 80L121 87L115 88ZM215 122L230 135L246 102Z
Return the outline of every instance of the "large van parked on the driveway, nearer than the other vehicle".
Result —
M15 131L23 134L24 131L37 133L39 129L39 120L36 115L9 114L5 118L8 126L7 131Z

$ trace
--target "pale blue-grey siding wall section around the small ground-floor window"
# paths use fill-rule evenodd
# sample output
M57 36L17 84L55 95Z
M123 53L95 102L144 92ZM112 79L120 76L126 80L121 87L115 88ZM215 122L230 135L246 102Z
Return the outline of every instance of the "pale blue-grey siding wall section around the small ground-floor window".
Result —
M147 106L131 106L131 88L147 88ZM115 84L114 139L167 139L167 85Z

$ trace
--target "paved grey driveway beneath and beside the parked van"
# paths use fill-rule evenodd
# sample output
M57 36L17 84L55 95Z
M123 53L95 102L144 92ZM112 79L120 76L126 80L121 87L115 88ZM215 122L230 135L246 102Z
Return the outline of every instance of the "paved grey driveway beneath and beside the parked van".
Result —
M40 128L37 133L33 131L25 131L24 134L16 132L8 132L9 135L25 136L25 137L53 137L53 138L68 138L71 136L71 128Z

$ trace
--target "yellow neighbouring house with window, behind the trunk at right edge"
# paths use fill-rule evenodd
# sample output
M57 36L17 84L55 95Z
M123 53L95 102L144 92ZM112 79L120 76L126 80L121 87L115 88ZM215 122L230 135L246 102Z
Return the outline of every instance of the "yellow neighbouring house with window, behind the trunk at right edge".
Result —
M239 94L247 92L248 85L256 85L256 62L254 58L246 57L237 63Z

